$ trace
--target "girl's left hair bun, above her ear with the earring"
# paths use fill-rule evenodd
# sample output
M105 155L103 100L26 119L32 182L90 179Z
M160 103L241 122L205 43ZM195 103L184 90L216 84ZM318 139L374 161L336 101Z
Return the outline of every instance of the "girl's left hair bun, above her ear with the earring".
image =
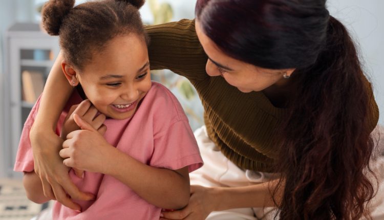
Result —
M75 0L50 0L41 10L42 26L50 35L59 35L63 18L75 5Z

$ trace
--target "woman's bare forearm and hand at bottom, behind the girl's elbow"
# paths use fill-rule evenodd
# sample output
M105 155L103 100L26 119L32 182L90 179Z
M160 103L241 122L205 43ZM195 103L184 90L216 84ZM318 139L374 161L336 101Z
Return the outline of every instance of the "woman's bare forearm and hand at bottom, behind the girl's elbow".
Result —
M212 211L235 208L274 207L274 188L279 180L244 187L191 186L188 205L179 211L162 212L160 219L204 220ZM284 185L274 195L280 203Z

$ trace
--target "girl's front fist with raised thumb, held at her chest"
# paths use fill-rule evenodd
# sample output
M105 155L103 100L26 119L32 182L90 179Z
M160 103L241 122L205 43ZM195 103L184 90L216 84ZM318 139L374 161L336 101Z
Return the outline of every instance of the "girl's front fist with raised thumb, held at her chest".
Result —
M106 157L115 149L91 124L74 114L73 119L82 130L72 131L63 142L59 155L66 166L103 173ZM111 151L112 150L112 151Z

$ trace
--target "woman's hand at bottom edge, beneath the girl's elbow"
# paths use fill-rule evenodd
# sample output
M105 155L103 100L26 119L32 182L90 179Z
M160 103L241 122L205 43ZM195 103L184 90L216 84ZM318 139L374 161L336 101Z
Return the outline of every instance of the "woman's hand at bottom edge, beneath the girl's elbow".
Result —
M214 211L216 205L215 196L211 194L212 190L214 188L191 185L188 205L177 211L162 211L163 217L160 219L204 220Z

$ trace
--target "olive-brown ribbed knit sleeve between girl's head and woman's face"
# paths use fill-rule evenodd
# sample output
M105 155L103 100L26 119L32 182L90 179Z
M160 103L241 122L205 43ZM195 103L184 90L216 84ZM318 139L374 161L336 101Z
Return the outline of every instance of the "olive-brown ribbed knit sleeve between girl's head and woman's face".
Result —
M151 69L168 69L191 81L207 77L207 56L195 31L195 20L183 19L162 25L147 26Z

